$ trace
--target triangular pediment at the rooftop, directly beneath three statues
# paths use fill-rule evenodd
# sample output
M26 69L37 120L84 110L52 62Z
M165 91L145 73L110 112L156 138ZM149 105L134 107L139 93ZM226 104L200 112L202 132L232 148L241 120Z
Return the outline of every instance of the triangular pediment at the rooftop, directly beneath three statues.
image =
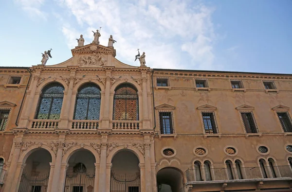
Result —
M73 56L76 54L93 54L93 53L102 53L105 55L110 54L113 57L116 56L116 52L113 48L95 43L84 45L82 47L75 47L75 49L72 49L71 52Z

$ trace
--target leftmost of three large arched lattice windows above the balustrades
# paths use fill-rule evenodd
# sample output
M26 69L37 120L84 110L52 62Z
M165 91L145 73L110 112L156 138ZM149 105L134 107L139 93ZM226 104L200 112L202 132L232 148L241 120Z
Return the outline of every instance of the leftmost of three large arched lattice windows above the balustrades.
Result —
M59 83L51 83L44 87L40 95L35 118L60 119L64 90L64 87Z

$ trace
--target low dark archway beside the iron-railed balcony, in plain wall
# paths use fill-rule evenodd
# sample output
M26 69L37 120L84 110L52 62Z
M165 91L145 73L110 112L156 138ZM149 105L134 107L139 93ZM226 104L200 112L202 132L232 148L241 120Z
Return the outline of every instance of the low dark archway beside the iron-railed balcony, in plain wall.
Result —
M183 191L183 175L173 167L166 167L157 173L158 192Z

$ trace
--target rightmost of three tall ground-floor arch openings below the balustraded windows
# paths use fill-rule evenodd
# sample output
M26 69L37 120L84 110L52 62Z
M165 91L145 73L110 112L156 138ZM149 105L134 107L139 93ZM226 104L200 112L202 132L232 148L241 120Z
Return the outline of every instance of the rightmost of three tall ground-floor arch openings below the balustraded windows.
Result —
M120 151L111 163L110 192L141 192L139 159L135 154Z

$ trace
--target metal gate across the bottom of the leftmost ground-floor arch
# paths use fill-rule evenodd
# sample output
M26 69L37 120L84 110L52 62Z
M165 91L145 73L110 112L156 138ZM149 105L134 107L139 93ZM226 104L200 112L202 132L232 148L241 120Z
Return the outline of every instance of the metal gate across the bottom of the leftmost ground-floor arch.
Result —
M47 192L50 172L44 175L22 173L18 192Z

